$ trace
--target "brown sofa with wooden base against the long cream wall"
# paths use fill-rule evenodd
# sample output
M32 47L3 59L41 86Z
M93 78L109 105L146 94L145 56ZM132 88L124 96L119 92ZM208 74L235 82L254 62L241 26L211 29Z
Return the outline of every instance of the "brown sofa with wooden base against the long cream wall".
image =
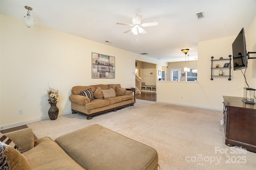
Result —
M101 90L98 90L98 87L100 87ZM113 88L116 92L114 97L105 98L106 96L99 95L102 90L108 90L110 88ZM81 92L87 89L91 89L93 92L93 100L81 95ZM124 93L118 90L122 90ZM120 84L74 86L71 90L69 100L71 102L72 113L82 113L87 116L87 119L92 119L94 115L107 113L108 111L116 111L117 109L134 105L132 91L121 88Z

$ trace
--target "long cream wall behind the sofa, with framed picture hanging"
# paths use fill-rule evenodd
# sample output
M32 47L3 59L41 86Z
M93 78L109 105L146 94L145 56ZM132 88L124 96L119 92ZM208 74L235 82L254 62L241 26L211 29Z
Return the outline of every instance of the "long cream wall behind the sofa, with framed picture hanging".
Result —
M135 86L136 59L167 66L157 59L39 25L27 28L22 20L2 14L0 22L0 126L4 129L47 118L48 85L60 91L57 106L62 115L71 113L68 96L73 86L113 83L130 88ZM91 78L92 52L116 57L115 79ZM18 109L24 114L19 115Z

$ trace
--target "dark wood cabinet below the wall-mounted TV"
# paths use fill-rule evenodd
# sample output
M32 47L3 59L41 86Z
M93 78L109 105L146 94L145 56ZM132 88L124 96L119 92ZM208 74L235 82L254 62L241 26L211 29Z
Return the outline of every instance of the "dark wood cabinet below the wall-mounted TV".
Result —
M239 97L223 99L225 144L256 152L256 104L245 104Z

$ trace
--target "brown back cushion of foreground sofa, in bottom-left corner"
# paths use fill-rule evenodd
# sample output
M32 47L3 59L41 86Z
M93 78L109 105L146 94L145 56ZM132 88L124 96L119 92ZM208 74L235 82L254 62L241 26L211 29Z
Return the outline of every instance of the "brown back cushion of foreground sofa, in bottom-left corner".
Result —
M32 170L25 156L13 147L6 146L4 149L4 155L7 156L10 170Z

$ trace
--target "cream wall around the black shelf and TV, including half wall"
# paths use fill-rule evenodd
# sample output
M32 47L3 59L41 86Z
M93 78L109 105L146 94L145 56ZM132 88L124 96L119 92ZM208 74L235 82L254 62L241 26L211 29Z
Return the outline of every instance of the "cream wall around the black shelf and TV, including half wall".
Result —
M256 51L255 20L254 18L252 25L246 32L248 51ZM214 59L219 59L219 57L228 58L228 55L232 55L232 43L235 38L236 36L232 36L198 42L198 82L158 81L156 83L157 102L222 110L222 96L242 97L244 92L243 87L246 86L244 76L240 70L231 70L232 80L230 81L228 77L214 77L214 80L210 80L211 56L214 56ZM251 88L256 88L255 61L256 59L250 59L246 70L246 78L248 83L251 84Z

